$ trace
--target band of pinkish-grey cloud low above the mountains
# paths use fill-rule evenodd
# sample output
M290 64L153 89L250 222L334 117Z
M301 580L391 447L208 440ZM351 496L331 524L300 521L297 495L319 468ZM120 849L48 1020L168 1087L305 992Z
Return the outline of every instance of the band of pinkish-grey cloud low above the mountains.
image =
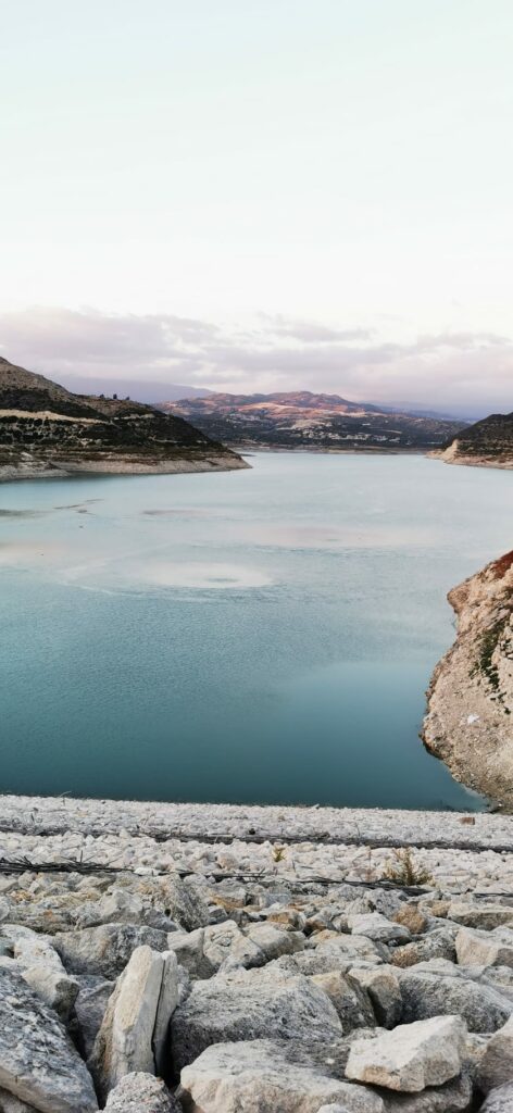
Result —
M171 314L105 314L36 307L0 314L0 353L72 387L75 378L145 384L166 397L176 382L211 390L329 391L353 400L485 413L513 408L513 344L487 332L383 341L365 328L331 328L257 315L227 328ZM155 390L152 397L155 400Z

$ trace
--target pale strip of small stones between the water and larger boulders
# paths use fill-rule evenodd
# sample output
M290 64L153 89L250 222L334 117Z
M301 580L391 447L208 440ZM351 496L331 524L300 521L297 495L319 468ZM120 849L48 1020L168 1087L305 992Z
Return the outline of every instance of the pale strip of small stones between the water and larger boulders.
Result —
M0 874L375 885L404 848L444 892L513 897L510 816L0 796Z

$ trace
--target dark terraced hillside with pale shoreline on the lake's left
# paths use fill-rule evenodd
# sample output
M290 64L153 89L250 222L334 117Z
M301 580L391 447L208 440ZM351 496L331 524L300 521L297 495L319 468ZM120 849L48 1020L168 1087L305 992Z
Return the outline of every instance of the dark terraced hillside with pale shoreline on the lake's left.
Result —
M71 394L0 357L0 479L246 466L181 417L129 398Z

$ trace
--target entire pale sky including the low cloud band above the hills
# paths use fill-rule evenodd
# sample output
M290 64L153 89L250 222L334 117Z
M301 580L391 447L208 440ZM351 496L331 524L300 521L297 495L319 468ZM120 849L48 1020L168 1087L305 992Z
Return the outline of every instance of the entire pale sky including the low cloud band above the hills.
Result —
M512 49L511 0L6 0L0 354L513 410Z

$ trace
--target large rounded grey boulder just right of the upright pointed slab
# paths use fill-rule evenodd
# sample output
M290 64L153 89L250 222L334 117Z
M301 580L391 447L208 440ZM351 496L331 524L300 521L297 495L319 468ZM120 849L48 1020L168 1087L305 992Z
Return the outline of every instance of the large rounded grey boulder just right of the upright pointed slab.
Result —
M329 997L303 975L275 964L196 982L171 1020L177 1073L210 1044L260 1040L333 1040L342 1024Z

